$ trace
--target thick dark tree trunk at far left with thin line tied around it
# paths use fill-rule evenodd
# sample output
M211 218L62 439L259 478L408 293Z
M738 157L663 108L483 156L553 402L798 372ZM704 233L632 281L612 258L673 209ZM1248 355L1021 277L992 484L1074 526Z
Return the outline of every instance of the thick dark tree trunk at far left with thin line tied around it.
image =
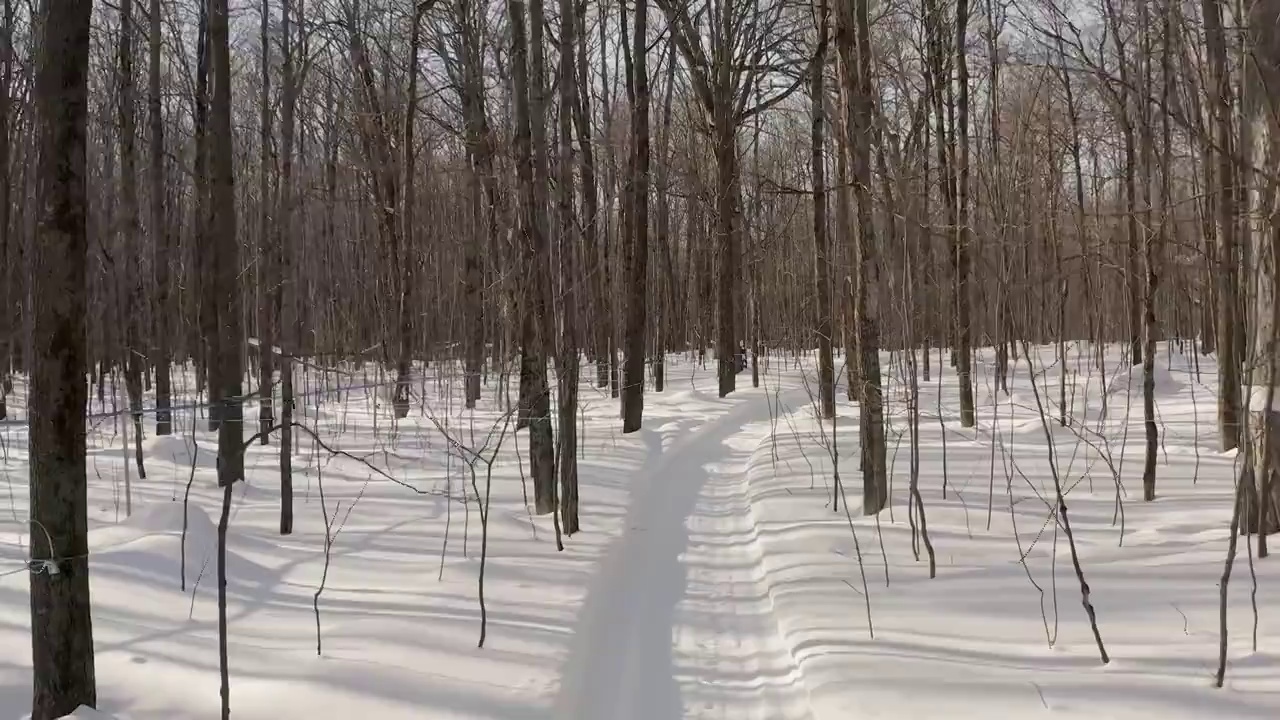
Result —
M32 720L93 706L84 477L84 136L90 0L45 0L36 68L40 160L32 277L29 450ZM56 559L56 560L54 560ZM56 570L56 574L54 574Z

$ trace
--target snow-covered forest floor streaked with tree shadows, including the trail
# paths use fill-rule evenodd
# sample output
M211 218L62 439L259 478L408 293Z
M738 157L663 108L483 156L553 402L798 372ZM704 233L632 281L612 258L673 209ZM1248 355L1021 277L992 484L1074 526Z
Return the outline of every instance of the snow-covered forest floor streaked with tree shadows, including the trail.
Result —
M975 429L960 428L950 368L941 386L936 374L922 383L919 487L933 579L913 542L906 396L887 354L892 503L879 518L860 512L858 410L841 391L833 454L831 423L819 425L812 409L810 357L772 357L760 388L744 373L726 400L712 368L672 357L668 388L645 396L635 434L620 433L617 401L584 384L582 532L563 552L552 519L529 512L527 438L497 430L506 416L493 384L472 415L453 395L457 383L433 369L425 402L393 425L385 388L364 387L376 377L330 374L323 392L311 374L300 420L358 460L300 438L296 527L282 538L278 447L250 448L228 559L233 716L1280 717L1280 570L1256 562L1254 650L1243 543L1228 684L1212 687L1234 473L1234 457L1216 451L1212 361L1201 359L1197 379L1190 357L1160 356L1158 498L1144 503L1140 383L1130 401L1116 354L1103 375L1078 350L1066 363L1066 428L1053 421L1061 368L1052 348L1041 348L1034 374L1018 364L1010 395L995 391L991 354L980 354ZM102 410L96 400L92 410ZM246 418L256 429L256 410ZM179 413L177 434L147 437L148 475L132 477L125 516L122 427L93 420L97 687L101 710L116 717L216 716L220 493L214 438L192 423L192 411ZM29 711L26 430L0 433L0 720L9 720ZM472 475L451 438L495 451L492 475L483 462ZM1106 666L1051 515L1047 438ZM488 637L477 648L476 492L490 479ZM337 534L328 574L326 518Z

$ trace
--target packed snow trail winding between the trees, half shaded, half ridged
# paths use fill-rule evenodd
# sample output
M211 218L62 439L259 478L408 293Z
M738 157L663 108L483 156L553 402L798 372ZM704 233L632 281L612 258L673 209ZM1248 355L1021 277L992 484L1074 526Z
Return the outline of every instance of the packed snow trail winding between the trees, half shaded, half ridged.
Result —
M698 397L698 393L694 393ZM623 534L589 589L563 667L561 720L812 720L783 644L746 495L767 436L759 392L714 418L645 428Z

